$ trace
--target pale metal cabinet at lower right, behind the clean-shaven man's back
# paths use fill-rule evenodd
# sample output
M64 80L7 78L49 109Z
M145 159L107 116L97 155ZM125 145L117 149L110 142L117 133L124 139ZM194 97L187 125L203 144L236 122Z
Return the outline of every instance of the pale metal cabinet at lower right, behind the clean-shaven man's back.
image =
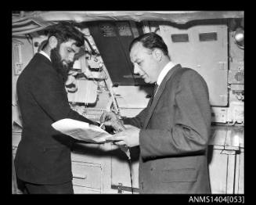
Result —
M212 128L208 149L211 192L243 194L243 128L217 126Z

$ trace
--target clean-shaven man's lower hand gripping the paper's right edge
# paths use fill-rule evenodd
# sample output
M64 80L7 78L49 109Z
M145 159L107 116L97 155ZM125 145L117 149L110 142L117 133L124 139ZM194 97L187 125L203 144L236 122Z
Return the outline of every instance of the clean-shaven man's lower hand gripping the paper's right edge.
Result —
M125 130L118 132L117 134L108 138L108 140L113 140L114 144L117 146L139 146L139 128L132 125L125 126Z

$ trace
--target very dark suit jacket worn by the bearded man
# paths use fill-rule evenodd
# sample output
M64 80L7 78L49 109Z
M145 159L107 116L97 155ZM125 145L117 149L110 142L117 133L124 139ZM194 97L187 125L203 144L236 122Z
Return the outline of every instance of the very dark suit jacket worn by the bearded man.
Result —
M15 158L17 176L25 182L58 184L72 179L72 138L51 126L71 118L94 124L70 109L63 78L37 53L20 74L17 96L23 131Z

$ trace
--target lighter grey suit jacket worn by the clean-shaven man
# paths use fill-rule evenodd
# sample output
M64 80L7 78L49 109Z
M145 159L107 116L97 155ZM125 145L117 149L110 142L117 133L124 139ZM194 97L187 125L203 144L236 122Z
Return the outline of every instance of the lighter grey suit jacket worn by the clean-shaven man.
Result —
M152 104L151 104L152 103ZM173 67L146 109L124 120L139 133L142 193L209 193L211 106L195 70Z

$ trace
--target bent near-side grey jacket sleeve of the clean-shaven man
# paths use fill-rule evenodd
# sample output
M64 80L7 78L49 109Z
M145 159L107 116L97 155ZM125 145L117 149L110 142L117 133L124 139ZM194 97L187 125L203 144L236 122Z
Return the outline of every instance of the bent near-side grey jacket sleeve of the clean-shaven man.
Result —
M211 106L207 85L194 71L182 74L175 92L174 125L140 131L143 158L181 156L204 152L211 130Z

